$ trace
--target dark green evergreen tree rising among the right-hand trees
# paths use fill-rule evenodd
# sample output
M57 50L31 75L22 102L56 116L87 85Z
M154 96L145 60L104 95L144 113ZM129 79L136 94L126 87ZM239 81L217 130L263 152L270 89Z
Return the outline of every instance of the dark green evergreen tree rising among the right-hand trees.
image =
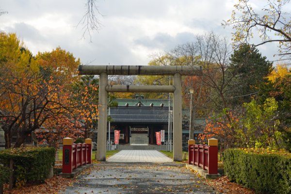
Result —
M229 70L234 79L230 84L229 97L233 105L250 102L250 96L259 92L259 85L266 81L265 77L272 71L272 63L259 53L258 49L242 45L230 57Z

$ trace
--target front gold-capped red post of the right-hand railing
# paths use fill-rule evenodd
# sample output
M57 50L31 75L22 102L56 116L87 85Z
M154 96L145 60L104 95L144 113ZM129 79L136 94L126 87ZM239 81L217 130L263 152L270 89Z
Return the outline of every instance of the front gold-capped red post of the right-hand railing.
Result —
M208 140L208 174L217 174L218 167L218 140L209 139Z

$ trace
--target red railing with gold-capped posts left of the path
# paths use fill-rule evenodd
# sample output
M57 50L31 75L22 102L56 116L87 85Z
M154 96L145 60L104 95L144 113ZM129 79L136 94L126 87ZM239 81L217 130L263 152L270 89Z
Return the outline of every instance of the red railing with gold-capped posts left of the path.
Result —
M63 139L63 170L72 173L78 166L91 163L92 140L85 139L84 144L73 144L72 138Z

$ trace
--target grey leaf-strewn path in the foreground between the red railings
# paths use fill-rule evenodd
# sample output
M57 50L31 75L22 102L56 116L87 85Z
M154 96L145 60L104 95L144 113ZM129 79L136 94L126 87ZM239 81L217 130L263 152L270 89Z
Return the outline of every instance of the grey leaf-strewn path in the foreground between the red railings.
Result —
M62 194L215 194L205 179L177 163L101 162Z

